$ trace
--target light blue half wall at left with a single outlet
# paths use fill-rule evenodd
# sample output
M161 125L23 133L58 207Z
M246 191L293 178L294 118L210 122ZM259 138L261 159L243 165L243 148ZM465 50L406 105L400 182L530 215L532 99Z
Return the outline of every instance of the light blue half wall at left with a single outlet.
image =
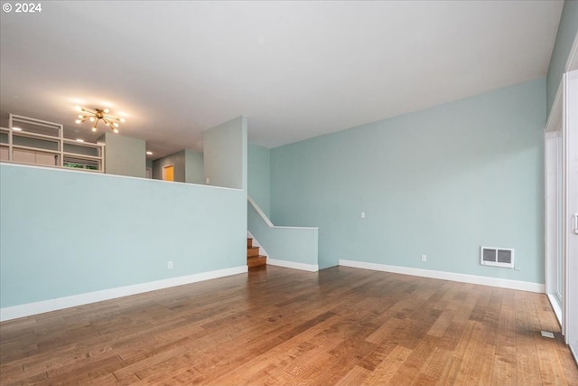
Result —
M0 164L0 198L3 308L247 264L241 190Z

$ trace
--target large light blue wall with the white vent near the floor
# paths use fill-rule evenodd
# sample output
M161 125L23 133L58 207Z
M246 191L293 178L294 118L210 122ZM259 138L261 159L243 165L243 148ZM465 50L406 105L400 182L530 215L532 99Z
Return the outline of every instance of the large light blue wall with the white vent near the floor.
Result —
M320 227L320 268L544 283L544 127L540 79L276 147L272 221ZM480 266L482 245L516 249L520 270Z

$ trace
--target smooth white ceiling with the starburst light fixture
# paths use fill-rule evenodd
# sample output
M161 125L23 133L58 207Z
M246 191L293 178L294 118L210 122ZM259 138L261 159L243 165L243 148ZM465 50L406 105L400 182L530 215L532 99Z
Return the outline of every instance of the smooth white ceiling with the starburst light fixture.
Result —
M156 158L248 116L274 147L545 76L561 1L40 2L1 14L0 113L124 115ZM78 132L75 132L78 130Z

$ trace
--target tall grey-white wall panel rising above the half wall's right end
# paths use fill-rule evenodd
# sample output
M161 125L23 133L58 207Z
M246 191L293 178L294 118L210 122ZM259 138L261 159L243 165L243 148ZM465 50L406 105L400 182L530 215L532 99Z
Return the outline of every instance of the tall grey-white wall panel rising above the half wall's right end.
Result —
M205 130L203 153L210 185L247 191L247 117Z

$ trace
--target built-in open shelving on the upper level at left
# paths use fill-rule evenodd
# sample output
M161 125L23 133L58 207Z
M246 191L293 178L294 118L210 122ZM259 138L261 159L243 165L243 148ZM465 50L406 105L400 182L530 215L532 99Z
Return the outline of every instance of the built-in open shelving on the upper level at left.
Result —
M104 145L63 137L61 124L10 115L0 127L0 160L104 172Z

